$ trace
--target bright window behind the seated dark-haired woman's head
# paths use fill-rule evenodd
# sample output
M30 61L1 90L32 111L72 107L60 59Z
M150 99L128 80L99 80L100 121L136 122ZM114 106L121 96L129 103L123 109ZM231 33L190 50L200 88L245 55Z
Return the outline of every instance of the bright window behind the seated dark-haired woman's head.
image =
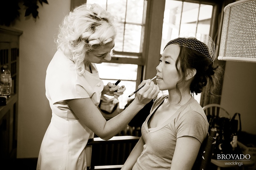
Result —
M213 5L166 0L162 30L161 51L167 42L178 38L185 31L197 33L203 38L209 36ZM168 94L164 91L163 94ZM201 94L195 95L200 103Z

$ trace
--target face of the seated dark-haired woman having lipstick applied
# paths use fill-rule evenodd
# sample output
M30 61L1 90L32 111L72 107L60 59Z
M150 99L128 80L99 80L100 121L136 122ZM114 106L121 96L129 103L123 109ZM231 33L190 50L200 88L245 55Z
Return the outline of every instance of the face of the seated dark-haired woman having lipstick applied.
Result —
M175 62L179 53L180 46L176 44L170 44L163 51L162 57L160 58L160 63L156 67L156 81L160 90L176 90L176 84L180 78L175 66Z

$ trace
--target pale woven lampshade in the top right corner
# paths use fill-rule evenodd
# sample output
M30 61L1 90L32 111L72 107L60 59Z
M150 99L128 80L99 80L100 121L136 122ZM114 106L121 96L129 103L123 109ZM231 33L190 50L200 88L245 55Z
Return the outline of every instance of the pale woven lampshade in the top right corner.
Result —
M256 62L256 0L224 8L219 60Z

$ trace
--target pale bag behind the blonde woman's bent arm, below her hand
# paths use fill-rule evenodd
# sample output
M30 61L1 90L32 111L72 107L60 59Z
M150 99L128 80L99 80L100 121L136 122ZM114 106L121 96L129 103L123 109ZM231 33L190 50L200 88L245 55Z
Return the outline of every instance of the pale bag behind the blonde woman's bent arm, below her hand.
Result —
M110 120L120 114L119 100L118 98L108 98L102 95L98 109L106 120Z

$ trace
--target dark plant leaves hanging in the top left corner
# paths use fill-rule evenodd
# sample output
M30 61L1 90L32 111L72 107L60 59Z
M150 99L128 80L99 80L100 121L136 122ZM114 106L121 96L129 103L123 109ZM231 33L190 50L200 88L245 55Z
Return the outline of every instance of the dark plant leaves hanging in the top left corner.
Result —
M25 17L30 14L33 18L39 18L37 9L39 6L37 3L43 6L43 3L48 4L47 0L3 0L0 3L0 25L10 26L11 22L20 17L19 10L21 9L19 4L26 7Z

